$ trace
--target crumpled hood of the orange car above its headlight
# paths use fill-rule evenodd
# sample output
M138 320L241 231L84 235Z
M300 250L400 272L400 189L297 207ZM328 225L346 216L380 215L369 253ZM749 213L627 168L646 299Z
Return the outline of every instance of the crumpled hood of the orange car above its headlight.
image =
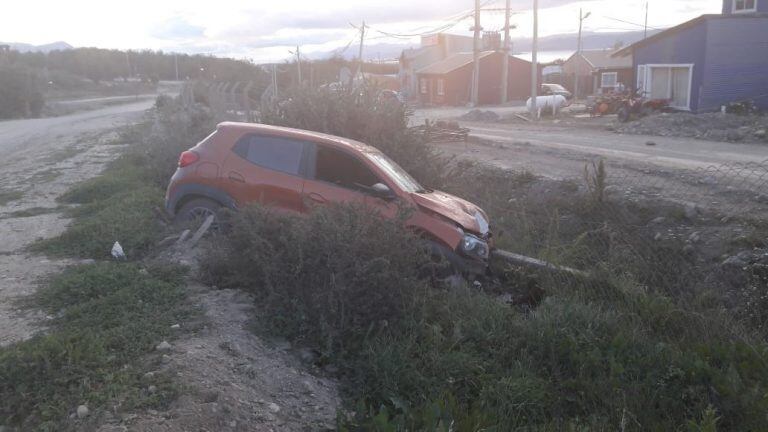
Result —
M480 235L488 233L488 216L469 201L440 191L413 193L411 196L418 206L454 221L465 231Z

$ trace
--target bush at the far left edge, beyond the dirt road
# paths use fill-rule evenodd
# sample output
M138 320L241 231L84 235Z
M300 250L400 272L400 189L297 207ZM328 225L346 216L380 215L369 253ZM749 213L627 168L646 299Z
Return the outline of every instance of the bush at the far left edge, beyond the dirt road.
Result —
M39 78L32 69L0 66L0 118L38 117L43 105Z

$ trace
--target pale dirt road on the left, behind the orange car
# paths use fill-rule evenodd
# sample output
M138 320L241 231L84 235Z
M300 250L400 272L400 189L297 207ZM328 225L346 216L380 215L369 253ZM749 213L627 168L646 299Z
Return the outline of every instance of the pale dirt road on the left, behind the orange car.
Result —
M117 148L115 127L135 122L152 101L64 117L0 122L0 345L29 337L45 317L18 302L37 281L72 260L31 255L26 247L67 226L56 197L96 175Z

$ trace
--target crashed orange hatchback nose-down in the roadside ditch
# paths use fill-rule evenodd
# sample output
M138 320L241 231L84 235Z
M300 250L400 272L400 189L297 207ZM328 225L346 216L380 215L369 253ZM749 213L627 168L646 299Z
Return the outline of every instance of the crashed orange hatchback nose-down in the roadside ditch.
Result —
M487 268L493 247L488 217L478 206L425 189L381 151L336 136L252 123L225 122L183 152L165 197L181 220L215 215L259 202L280 211L307 212L312 204L362 203L407 220L454 266Z

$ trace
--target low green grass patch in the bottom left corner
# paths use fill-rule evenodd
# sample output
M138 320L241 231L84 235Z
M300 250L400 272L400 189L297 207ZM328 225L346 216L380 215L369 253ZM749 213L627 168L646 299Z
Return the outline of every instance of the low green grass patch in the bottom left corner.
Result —
M189 319L183 270L96 263L54 276L35 297L55 316L51 331L0 349L0 424L22 430L76 429L67 417L78 405L131 410L167 406L176 395L169 377L142 375L157 366L145 355Z

